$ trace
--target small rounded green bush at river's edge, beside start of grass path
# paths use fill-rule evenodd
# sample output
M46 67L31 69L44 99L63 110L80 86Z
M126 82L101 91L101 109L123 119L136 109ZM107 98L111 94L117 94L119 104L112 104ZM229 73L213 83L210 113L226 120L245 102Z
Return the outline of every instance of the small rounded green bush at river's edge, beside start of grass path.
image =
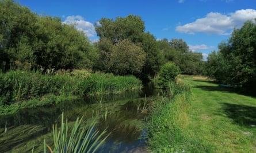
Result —
M179 74L179 68L173 62L167 62L162 66L160 72L158 73L158 78L156 82L160 88L167 89L171 82L175 81L175 78Z

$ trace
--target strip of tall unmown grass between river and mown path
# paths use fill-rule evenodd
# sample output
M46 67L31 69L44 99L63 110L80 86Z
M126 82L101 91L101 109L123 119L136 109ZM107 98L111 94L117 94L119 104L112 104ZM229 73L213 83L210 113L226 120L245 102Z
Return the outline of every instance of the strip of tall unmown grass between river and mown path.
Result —
M186 109L190 105L190 87L184 83L170 83L174 95L163 97L156 101L150 112L148 124L149 147L152 152L182 152L184 144L188 143L182 132L186 123ZM189 148L191 149L191 148Z

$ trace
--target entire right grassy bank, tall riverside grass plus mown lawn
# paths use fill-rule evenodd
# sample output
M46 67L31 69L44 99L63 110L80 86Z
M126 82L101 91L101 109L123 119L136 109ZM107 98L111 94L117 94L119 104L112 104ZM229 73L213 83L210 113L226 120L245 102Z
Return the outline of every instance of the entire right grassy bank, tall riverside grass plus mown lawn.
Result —
M256 99L185 76L192 96L163 98L151 112L152 152L255 152Z

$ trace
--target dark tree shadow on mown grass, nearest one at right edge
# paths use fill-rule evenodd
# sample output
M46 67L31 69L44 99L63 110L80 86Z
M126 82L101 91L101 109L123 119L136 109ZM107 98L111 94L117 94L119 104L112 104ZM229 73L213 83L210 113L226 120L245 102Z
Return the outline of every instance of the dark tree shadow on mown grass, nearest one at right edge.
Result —
M235 124L243 126L256 126L256 107L222 103L224 114L234 121Z

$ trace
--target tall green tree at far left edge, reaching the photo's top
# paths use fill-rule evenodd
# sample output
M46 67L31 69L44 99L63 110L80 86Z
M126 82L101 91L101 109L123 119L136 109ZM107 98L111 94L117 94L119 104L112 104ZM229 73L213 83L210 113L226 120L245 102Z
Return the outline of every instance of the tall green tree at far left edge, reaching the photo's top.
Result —
M0 54L5 57L0 64L8 68L14 61L33 62L36 14L11 0L0 1L0 6Z

